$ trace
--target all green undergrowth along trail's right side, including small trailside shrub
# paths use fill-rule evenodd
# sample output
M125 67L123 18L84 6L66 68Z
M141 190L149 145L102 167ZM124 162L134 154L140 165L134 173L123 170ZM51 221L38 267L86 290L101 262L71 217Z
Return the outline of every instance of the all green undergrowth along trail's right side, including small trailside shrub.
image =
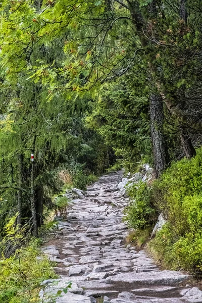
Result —
M173 163L153 184L140 182L130 191L125 221L134 231L128 241L141 246L146 231L163 213L168 222L148 243L153 256L167 269L202 274L202 148L192 159ZM145 232L144 232L145 231Z

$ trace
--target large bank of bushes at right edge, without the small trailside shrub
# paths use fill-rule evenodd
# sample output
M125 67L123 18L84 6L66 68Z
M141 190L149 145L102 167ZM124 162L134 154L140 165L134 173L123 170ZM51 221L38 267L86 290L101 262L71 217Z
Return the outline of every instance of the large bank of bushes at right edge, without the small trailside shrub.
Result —
M191 160L173 163L155 181L153 199L168 216L150 248L173 269L202 271L202 150Z

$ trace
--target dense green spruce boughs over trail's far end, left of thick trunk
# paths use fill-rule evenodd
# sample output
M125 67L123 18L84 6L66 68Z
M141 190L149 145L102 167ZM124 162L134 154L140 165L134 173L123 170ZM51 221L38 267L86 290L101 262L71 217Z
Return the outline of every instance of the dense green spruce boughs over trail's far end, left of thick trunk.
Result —
M148 99L134 88L134 78L102 85L94 92L94 100L87 125L113 147L123 167L132 172L142 154L151 163Z

